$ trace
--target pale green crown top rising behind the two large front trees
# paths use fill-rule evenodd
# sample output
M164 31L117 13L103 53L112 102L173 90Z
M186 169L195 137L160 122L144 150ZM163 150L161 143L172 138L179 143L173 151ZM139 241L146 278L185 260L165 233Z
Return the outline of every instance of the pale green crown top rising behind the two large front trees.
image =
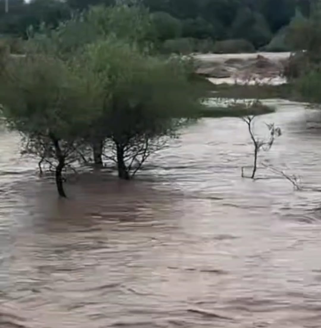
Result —
M56 29L43 24L38 32L30 29L28 34L29 51L55 53L60 58L80 55L86 45L110 35L135 43L141 49L149 49L153 40L148 11L126 5L92 7L60 23Z

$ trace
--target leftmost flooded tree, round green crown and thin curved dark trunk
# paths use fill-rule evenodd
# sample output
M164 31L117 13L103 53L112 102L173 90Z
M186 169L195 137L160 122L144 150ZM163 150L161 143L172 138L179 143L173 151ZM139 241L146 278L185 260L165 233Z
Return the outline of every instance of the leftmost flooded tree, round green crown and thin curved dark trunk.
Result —
M63 170L79 160L88 126L98 115L100 87L84 67L56 57L28 54L7 58L1 73L0 102L10 128L22 133L25 153L55 167L60 196Z

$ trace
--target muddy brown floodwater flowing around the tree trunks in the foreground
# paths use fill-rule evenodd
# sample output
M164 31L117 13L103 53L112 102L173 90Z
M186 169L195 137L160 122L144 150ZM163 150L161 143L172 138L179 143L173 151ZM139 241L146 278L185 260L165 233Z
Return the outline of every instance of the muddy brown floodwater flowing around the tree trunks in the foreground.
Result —
M320 327L321 113L269 103L257 132L283 135L260 161L306 190L241 178L237 118L190 126L134 181L83 174L66 200L2 131L0 327Z

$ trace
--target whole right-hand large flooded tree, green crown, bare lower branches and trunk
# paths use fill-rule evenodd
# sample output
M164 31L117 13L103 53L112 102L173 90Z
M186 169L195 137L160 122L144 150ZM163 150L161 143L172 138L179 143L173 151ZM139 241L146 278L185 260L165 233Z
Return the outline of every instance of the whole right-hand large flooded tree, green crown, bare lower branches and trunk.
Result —
M130 179L150 154L197 116L197 88L184 61L144 55L113 38L91 45L85 60L99 72L106 91L93 133L102 138L105 157L117 163L119 178Z

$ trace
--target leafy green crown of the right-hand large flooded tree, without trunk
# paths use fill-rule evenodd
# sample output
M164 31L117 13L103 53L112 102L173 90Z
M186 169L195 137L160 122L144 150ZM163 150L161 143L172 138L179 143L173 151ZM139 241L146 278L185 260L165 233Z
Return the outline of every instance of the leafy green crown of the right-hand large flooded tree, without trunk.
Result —
M92 71L100 72L109 106L116 102L124 115L127 109L140 107L139 111L146 111L141 112L141 119L152 127L152 117L168 119L195 113L198 100L188 79L188 62L144 55L136 47L114 39L90 45L87 56Z

